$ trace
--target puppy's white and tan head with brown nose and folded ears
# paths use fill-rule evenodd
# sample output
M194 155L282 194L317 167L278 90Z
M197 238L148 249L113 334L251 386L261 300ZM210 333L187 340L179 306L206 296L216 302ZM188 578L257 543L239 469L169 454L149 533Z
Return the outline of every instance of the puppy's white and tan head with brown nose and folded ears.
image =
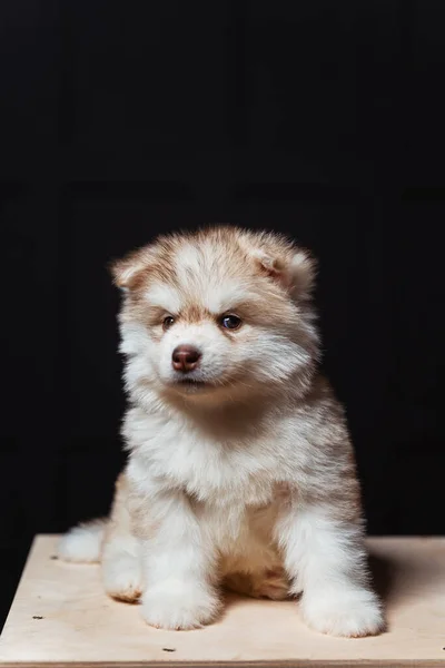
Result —
M198 401L301 389L317 356L314 263L278 235L230 227L160 237L112 265L132 396Z

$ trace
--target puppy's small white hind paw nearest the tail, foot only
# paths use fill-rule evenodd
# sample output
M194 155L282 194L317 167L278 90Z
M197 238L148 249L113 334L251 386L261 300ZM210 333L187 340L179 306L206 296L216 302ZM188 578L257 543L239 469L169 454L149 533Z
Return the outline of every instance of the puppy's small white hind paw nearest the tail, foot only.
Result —
M115 557L102 564L105 590L111 598L134 603L142 592L142 569L131 556Z

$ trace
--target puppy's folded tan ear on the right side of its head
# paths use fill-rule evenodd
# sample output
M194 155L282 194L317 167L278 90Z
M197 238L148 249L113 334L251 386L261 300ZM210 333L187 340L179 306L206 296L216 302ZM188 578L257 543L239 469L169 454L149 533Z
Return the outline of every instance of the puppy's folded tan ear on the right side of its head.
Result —
M258 250L256 259L261 271L287 289L294 298L309 299L315 284L316 262L307 250L298 248L293 255L274 257Z

